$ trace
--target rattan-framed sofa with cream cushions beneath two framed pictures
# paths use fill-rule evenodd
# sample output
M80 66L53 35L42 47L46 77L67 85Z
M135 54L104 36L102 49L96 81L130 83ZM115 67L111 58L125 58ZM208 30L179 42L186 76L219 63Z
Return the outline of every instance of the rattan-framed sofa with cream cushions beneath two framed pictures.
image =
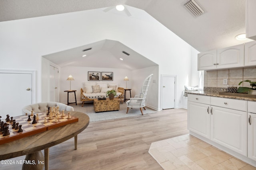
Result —
M81 88L80 100L82 101L82 107L84 107L85 101L93 101L96 98L108 98L106 92L108 90L116 90L116 96L114 98L120 99L121 103L124 98L124 88L118 87L116 83L97 83L97 82L84 82L83 88Z

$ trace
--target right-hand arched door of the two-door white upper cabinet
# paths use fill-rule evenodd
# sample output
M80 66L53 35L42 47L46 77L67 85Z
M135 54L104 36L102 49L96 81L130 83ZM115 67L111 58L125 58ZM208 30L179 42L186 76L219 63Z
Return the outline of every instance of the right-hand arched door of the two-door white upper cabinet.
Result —
M217 68L244 66L244 44L217 50Z

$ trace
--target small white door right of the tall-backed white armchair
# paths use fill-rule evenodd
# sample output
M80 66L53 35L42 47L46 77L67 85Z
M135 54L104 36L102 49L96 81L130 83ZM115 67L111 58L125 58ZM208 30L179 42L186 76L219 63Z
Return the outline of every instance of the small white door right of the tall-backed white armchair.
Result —
M162 76L162 109L174 108L175 77Z

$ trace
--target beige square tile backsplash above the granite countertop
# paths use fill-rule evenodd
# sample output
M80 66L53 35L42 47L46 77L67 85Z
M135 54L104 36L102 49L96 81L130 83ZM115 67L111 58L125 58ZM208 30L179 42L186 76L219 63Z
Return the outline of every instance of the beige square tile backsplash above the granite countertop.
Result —
M223 84L223 79L228 80L228 84ZM228 86L250 87L248 82L239 82L244 80L256 81L256 67L234 68L227 70L204 71L204 87L227 88Z

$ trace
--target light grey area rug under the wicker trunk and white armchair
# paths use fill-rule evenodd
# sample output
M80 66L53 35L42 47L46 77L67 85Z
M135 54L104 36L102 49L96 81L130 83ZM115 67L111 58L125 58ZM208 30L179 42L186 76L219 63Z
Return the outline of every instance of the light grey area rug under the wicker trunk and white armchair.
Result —
M86 113L86 115L90 117L90 122L119 119L124 117L131 117L131 116L142 116L140 112L140 108L132 108L132 109L129 108L129 111L126 114L126 110L127 110L126 103L123 103L123 104L120 103L120 110L104 111L104 112L97 112L97 113L93 109L93 103L84 104L84 107L82 107L81 104L70 105L70 106L74 107L75 111ZM146 108L146 110L143 109L144 115L150 114L150 113L156 113L156 111L149 108Z

